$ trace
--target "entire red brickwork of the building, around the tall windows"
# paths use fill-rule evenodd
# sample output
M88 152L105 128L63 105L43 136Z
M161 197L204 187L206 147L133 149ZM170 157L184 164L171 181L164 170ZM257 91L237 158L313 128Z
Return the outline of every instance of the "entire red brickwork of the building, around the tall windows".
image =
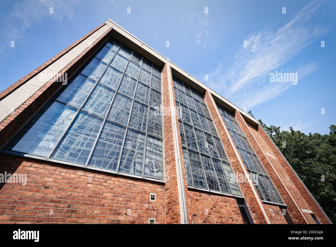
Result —
M100 25L5 89L0 93L0 100L3 97L10 97L13 90L104 25L106 24ZM75 73L87 58L111 37L111 31L112 28L101 35L62 69L57 77L62 73L68 73L68 77ZM162 68L165 182L111 174L0 152L1 173L27 175L27 184L25 185L0 183L0 223L149 223L150 218L155 218L156 223L184 223L181 190L185 192L189 223L243 223L234 196L187 187L175 95L170 86L174 71L171 67L167 68L167 64ZM15 109L13 114L0 123L1 146L61 86L61 83L56 81L57 77L47 82L22 106ZM242 158L219 115L211 92L205 90L204 95L233 171L249 178L243 181L238 180L238 183L253 222L286 224L282 207L261 201ZM171 111L173 107L175 108L175 116ZM311 210L321 223L329 223L262 128L248 124L237 110L235 118L283 198L293 221L295 223L315 223L309 213L300 209L304 208ZM176 124L178 140L175 139L174 124ZM182 165L182 184L180 184L178 172L179 158ZM156 194L156 201L150 200L150 193ZM274 214L271 213L271 210Z

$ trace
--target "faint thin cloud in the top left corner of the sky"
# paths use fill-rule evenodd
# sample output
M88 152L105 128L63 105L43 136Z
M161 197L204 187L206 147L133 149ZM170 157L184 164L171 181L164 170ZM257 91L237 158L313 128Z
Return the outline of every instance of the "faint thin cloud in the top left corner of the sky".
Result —
M25 37L27 30L46 18L62 22L64 17L73 18L74 7L80 0L24 0L13 4L12 11L0 18L0 53L10 47L11 41ZM50 13L53 8L53 14Z

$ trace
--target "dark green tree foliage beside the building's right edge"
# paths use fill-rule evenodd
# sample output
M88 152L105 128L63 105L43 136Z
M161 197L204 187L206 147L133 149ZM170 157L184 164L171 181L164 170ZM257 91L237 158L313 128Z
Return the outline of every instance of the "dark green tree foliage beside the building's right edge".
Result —
M281 131L258 121L331 221L336 222L336 125L329 127L329 134L306 135L292 127Z

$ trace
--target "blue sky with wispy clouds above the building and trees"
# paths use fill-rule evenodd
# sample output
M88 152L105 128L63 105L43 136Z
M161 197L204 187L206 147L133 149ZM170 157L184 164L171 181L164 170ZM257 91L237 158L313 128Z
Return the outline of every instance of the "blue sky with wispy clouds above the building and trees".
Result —
M1 1L0 91L110 18L267 125L325 134L336 124L335 13L332 0ZM270 82L275 71L298 83Z

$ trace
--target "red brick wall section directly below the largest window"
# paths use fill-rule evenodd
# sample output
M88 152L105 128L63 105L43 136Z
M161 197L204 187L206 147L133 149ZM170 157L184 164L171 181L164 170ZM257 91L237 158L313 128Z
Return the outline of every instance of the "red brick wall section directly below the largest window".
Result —
M3 171L27 174L27 184L0 184L0 223L165 223L159 182L0 154Z

